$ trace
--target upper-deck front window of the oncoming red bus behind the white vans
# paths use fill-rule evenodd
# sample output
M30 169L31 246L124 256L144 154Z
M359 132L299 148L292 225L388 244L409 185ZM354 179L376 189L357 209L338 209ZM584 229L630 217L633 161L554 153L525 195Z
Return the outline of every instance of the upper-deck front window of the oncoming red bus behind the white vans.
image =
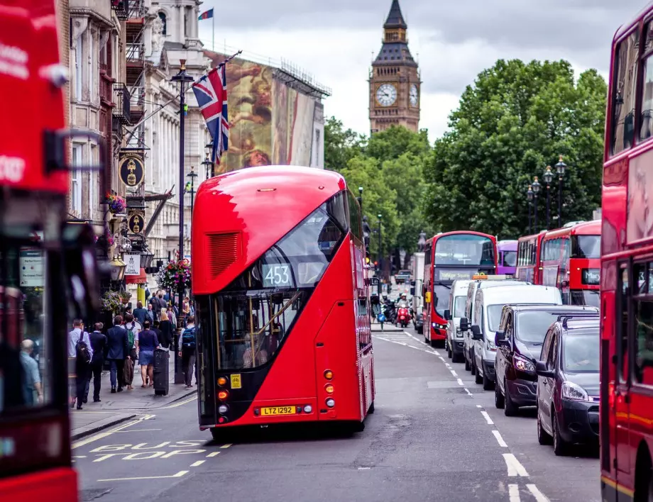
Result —
M435 243L435 265L494 265L494 246L482 235L445 235Z

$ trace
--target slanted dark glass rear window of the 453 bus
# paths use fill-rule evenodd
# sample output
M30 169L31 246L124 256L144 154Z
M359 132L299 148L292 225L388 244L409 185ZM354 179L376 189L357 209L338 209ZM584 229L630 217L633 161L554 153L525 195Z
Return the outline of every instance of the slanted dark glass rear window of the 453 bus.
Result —
M324 204L219 294L198 297L214 319L216 369L256 368L273 359L343 237Z

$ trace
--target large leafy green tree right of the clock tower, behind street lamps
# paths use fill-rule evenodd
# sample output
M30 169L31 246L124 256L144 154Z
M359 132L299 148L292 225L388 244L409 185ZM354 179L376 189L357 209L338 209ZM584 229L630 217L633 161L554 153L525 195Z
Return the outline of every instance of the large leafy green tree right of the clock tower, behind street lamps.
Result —
M566 61L499 60L478 74L427 157L426 212L439 230L517 238L528 225L527 187L564 155L563 221L600 205L606 86L596 70L574 82ZM551 189L557 213L557 184ZM544 191L538 230L546 226ZM552 220L552 227L559 226Z

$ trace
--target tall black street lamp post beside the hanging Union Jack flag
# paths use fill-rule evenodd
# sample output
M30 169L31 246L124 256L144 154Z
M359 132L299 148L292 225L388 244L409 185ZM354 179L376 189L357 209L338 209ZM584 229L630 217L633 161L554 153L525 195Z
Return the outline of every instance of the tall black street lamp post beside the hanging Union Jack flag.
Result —
M194 81L193 77L186 73L186 60L180 60L180 69L174 77L172 82L179 82L179 260L184 259L184 136L185 136L185 116L186 116L186 84ZM179 281L179 288L177 290L177 328L182 328L184 325L184 316L182 309L182 301L185 294L184 281ZM174 301L175 295L172 294ZM179 351L175 350L175 384L184 383L184 375L181 371L181 364L179 364Z

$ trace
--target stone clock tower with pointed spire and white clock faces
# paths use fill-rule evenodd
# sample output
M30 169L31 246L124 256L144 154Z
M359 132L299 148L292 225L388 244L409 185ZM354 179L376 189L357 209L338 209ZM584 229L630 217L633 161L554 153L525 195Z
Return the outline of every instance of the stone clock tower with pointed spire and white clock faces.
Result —
M383 45L370 71L372 133L390 125L403 125L417 132L422 82L417 62L408 49L407 29L399 0L393 0L383 25Z

